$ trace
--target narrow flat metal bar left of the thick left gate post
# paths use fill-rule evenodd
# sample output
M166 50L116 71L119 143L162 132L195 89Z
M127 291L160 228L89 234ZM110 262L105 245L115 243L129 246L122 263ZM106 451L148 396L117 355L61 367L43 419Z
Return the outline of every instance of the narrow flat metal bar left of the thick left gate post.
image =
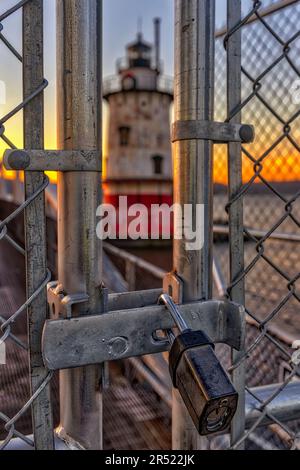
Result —
M43 82L43 0L31 0L23 7L23 94L31 95ZM40 93L24 109L24 144L26 149L44 147L44 98ZM44 182L43 173L25 176L25 197L29 198ZM27 297L47 277L45 194L42 193L25 211ZM41 336L47 317L46 288L28 308L31 393L47 377L41 354ZM37 450L52 450L53 422L50 386L44 388L32 405L32 419Z

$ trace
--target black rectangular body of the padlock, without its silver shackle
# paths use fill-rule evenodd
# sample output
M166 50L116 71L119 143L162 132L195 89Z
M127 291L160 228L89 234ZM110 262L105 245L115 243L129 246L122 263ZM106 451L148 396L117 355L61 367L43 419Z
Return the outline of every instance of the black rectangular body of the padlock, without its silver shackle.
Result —
M236 412L238 394L212 346L184 351L175 374L176 387L199 434L225 431Z

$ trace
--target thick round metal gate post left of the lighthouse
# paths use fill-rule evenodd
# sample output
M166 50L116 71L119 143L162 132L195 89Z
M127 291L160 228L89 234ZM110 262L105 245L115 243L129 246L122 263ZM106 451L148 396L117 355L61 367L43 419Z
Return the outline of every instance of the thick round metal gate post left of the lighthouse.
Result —
M98 149L101 158L102 0L57 0L57 28L59 147ZM59 282L68 294L89 295L78 315L102 308L100 202L100 173L59 175ZM59 436L79 448L102 448L101 370L99 365L61 372Z

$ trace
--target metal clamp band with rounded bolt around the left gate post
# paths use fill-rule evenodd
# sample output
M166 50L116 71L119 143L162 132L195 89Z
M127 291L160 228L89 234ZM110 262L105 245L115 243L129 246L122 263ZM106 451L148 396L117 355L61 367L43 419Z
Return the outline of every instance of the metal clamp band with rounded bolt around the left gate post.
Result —
M95 171L100 172L99 150L7 150L7 170L26 171Z

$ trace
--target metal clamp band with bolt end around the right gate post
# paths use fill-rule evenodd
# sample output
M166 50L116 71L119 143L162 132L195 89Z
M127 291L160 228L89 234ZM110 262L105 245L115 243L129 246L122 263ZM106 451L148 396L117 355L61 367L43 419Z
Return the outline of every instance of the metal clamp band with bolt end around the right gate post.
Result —
M251 143L254 127L213 121L177 121L173 124L172 142L180 140L211 140L214 143Z

